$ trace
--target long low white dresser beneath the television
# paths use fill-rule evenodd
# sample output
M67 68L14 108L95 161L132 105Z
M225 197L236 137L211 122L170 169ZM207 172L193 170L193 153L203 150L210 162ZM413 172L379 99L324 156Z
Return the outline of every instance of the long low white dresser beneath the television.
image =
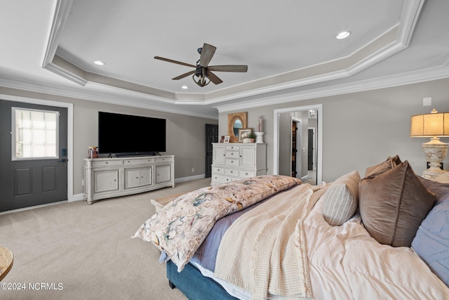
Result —
M175 156L84 159L84 198L119 197L175 187Z

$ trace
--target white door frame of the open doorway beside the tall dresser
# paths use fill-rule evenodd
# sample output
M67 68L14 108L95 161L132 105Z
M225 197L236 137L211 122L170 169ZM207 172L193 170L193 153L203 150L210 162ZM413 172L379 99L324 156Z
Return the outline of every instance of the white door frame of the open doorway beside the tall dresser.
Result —
M318 115L318 151L316 157L316 183L320 184L323 181L323 105L315 104L315 105L305 105L305 106L297 106L297 107L286 107L280 108L278 110L274 110L273 113L273 174L279 174L279 114L283 112L295 112L295 111L304 111L304 110L316 110Z

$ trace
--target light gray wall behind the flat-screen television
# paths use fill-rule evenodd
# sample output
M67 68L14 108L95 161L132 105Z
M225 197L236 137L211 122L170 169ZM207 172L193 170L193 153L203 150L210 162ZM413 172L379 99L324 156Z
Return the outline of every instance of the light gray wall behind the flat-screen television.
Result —
M81 185L83 179L83 158L87 157L88 147L98 145L98 111L166 119L167 151L161 152L161 154L175 155L175 178L201 176L204 174L204 150L206 147L205 124L218 123L217 119L190 117L170 112L145 110L142 108L18 91L1 87L0 93L26 98L74 103L74 195L83 193L83 185ZM152 130L156 129L137 130L142 132L142 138L152 138ZM194 172L192 172L192 169L194 169Z

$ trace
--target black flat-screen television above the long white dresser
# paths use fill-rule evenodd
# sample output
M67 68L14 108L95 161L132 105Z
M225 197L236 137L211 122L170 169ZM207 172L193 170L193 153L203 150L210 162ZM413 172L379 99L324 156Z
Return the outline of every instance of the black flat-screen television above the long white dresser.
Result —
M166 151L166 119L98 112L98 152L115 156Z

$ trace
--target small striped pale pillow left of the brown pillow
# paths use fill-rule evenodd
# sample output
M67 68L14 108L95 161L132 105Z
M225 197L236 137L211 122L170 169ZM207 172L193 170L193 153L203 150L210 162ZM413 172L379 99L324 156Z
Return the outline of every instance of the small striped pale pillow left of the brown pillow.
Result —
M323 216L331 226L340 226L348 221L358 205L358 171L341 176L321 196Z

